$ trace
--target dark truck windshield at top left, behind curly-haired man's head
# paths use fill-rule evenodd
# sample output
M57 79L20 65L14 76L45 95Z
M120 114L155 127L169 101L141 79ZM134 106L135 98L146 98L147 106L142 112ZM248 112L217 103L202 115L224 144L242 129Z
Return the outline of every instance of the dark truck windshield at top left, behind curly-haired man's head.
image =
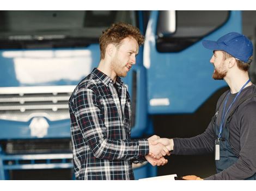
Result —
M79 46L84 39L87 43L98 40L102 30L119 21L136 25L135 11L0 11L0 41L9 41L13 48L19 48L17 42L20 48L29 48L26 43L29 41L51 41L50 46L54 47L53 40L63 39L79 40ZM69 43L57 43L55 47L72 46ZM2 48L7 46L1 44Z

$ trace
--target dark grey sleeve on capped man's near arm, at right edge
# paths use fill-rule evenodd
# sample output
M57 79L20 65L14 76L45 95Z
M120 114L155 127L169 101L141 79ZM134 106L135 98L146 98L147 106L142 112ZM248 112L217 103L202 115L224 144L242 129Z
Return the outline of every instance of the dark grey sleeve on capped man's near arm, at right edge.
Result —
M212 175L205 180L244 180L256 173L256 102L248 103L237 116L240 122L239 159L221 173Z

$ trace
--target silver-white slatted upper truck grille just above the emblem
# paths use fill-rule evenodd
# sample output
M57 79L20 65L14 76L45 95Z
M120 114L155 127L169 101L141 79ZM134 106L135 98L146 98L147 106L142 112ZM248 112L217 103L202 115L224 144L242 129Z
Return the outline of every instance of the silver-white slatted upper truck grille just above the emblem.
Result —
M1 87L0 119L27 122L32 117L69 119L68 100L75 86Z

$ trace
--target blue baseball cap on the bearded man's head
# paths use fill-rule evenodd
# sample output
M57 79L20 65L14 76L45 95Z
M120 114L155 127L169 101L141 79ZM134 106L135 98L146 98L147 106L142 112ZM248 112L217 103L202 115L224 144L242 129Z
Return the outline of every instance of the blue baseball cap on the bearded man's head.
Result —
M238 60L251 62L249 58L253 54L253 45L245 35L231 32L220 37L217 41L203 40L202 43L205 48L223 50Z

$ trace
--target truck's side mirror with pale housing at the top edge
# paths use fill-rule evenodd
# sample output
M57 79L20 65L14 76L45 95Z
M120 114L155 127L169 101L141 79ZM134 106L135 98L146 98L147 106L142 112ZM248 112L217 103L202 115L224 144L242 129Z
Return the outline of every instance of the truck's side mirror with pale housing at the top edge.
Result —
M176 31L176 11L159 11L157 36L164 37Z

